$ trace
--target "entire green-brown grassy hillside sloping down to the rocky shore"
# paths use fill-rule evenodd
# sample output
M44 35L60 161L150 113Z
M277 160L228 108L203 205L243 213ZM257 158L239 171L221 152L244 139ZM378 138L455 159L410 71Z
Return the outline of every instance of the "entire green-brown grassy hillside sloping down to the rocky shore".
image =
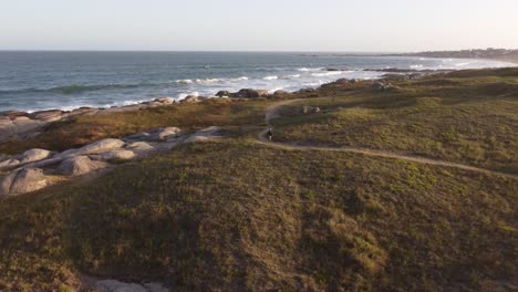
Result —
M258 140L267 122L274 144ZM518 286L517 69L84 116L0 150L213 125L225 138L0 200L0 290Z

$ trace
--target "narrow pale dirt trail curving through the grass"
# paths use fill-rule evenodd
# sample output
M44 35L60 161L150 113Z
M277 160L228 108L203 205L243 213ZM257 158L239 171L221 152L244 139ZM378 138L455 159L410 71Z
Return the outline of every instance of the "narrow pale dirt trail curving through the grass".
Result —
M265 121L267 125L271 127L270 121L280 116L279 115L280 107L284 105L293 104L297 102L301 102L301 101L307 101L307 100L298 98L298 100L282 101L282 102L276 103L267 107L266 115L265 115ZM385 150L373 150L373 149L355 148L355 147L299 146L299 145L276 143L267 138L267 132L268 132L268 128L263 129L261 133L258 134L257 136L258 143L270 146L270 147L280 148L280 149L355 153L355 154L362 154L362 155L373 156L373 157L402 159L402 160L417 163L417 164L444 166L444 167L457 168L457 169L463 169L463 170L468 170L468 171L474 171L474 173L480 173L480 174L490 175L490 176L503 176L503 177L507 177L511 179L518 179L518 175L499 173L499 171L479 168L475 166L449 163L449 161L444 161L444 160L396 154L396 153L391 153L391 152L385 152Z

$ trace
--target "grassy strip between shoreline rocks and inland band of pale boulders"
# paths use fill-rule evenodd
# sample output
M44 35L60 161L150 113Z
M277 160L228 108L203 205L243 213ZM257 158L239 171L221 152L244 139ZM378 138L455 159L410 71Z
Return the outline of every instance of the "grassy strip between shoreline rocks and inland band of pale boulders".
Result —
M102 138L122 138L137 132L175 126L185 132L208 126L258 125L263 122L267 100L211 98L201 103L144 108L139 111L79 116L49 125L32 139L0 145L0 153L13 155L31 148L65 150Z

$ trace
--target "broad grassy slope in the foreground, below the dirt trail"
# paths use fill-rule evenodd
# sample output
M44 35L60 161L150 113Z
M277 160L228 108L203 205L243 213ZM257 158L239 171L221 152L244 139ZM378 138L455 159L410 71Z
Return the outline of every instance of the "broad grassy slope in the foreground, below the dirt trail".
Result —
M179 291L516 285L516 189L247 138L182 145L0 201L0 290L73 290L80 273Z

